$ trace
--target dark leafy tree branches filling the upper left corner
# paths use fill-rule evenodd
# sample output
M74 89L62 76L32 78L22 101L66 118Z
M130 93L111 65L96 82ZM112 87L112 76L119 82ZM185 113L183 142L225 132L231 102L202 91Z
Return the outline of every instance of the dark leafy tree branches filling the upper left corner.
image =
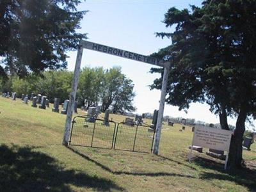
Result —
M79 0L1 0L0 74L41 72L67 66L66 51L76 49L85 34L77 33L85 12Z

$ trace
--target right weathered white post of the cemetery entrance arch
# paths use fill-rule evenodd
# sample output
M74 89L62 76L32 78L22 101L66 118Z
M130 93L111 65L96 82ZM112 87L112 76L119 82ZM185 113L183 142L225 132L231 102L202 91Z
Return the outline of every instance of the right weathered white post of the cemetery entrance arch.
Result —
M169 68L170 68L170 63L169 65L166 65L166 67L164 67L164 76L163 76L161 98L160 98L160 104L159 104L159 113L157 116L156 134L155 134L154 146L153 146L153 153L156 155L158 154L159 142L161 137L161 129L162 129L162 122L163 122L163 115L164 115L164 102L165 102L166 88L168 83Z

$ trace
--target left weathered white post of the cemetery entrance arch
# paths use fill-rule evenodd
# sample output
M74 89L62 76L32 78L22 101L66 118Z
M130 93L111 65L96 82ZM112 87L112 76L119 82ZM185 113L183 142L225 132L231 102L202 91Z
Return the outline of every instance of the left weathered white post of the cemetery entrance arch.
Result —
M73 113L74 104L75 104L75 100L76 100L77 84L78 84L78 79L79 79L82 55L83 55L83 46L81 44L79 44L79 47L77 50L77 57L76 57L76 67L74 70L74 76L72 79L72 86L71 86L71 93L70 93L70 97L69 97L67 118L66 118L66 124L65 124L65 132L64 132L63 141L62 141L62 145L65 145L66 147L68 146L68 140L69 140L69 136L70 136L72 113Z

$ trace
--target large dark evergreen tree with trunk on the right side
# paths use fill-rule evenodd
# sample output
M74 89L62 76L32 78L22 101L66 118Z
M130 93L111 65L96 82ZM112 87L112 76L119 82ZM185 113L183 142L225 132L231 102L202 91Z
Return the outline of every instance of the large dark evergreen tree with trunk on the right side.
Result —
M172 61L166 102L188 109L191 102L207 102L229 129L227 116L237 118L230 144L228 168L243 163L244 122L256 111L256 1L204 1L191 11L170 8L166 27L172 45L156 56ZM152 68L152 72L163 70ZM156 79L151 88L161 88Z

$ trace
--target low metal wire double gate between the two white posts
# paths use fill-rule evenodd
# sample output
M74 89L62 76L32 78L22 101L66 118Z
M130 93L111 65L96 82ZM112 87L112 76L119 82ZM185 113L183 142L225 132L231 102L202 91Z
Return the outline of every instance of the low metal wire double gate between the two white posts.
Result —
M114 148L136 152L151 152L155 132L148 125L126 125L104 122L87 116L76 116L72 121L70 145Z

